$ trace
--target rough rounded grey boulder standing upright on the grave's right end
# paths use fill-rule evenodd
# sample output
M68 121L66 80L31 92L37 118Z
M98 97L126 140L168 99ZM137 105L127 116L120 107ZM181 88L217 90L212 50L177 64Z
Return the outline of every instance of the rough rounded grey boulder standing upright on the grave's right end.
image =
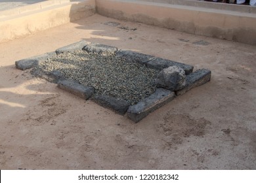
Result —
M163 69L156 78L156 86L177 91L184 88L186 84L185 71L177 66Z

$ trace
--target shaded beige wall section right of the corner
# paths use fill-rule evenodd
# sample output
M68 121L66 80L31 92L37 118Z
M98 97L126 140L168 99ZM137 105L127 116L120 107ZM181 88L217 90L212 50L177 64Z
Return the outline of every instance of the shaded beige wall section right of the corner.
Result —
M197 7L176 5L174 0L96 0L96 10L98 14L121 20L256 45L256 7L240 5L242 8L238 11L238 5L215 9L211 7L214 3L196 3L199 4Z

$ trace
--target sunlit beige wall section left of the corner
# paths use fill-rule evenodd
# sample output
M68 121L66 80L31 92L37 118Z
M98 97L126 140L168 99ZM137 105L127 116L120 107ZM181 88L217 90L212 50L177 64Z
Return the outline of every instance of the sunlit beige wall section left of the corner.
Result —
M95 13L95 0L51 0L0 12L0 42L79 20Z

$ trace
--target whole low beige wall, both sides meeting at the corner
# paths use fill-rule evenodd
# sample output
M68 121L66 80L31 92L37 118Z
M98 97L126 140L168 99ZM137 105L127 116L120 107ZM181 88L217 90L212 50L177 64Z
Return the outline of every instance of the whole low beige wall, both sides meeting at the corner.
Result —
M98 12L186 33L256 45L256 7L191 0L49 0L0 12L0 42Z

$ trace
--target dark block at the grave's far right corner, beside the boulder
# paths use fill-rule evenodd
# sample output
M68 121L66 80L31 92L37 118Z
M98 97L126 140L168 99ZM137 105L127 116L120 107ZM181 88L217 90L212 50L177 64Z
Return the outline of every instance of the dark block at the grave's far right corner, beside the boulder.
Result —
M211 80L211 71L208 69L200 69L186 76L186 85L182 90L179 90L176 95L182 95L183 93L188 92L192 88L205 84Z

